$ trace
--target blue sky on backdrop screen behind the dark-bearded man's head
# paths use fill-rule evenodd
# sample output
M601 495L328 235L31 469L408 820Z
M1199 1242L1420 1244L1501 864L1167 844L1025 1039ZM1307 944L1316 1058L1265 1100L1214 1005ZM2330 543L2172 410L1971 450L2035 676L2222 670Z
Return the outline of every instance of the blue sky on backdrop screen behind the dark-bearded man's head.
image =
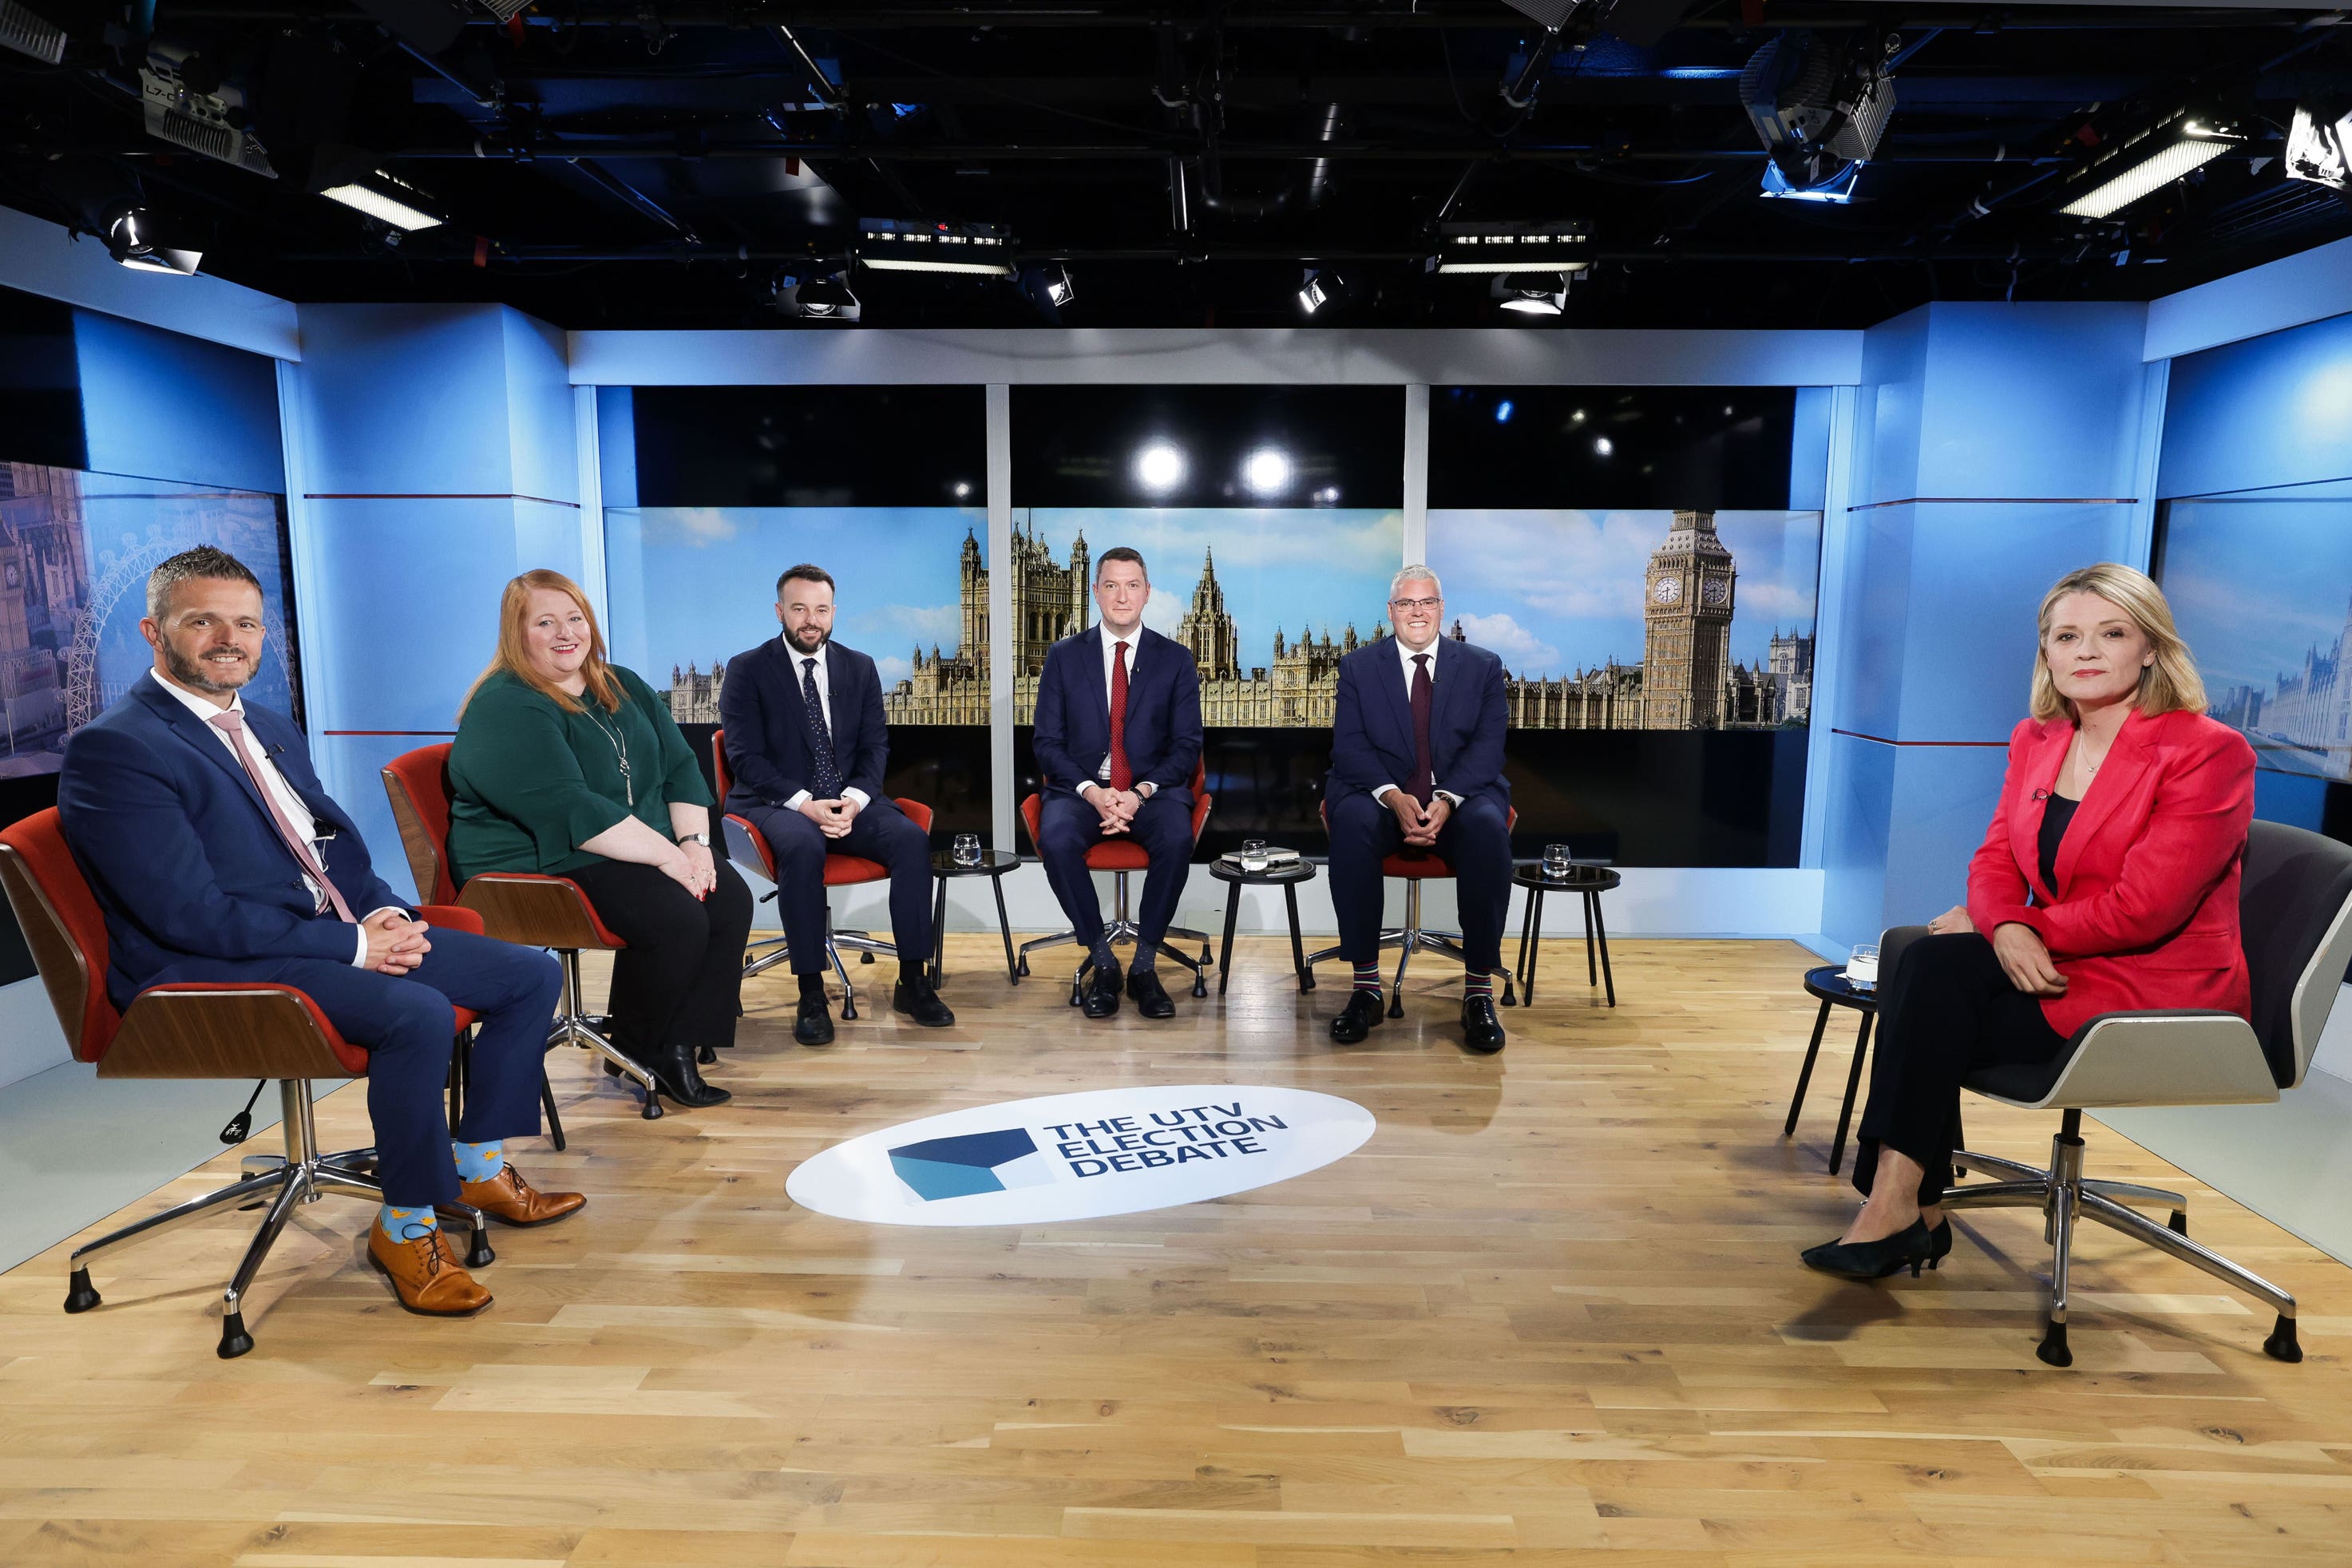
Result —
M917 644L955 651L964 531L985 552L988 512L934 505L607 508L612 654L656 689L670 665L724 663L776 635L776 574L833 574L833 635L906 679Z

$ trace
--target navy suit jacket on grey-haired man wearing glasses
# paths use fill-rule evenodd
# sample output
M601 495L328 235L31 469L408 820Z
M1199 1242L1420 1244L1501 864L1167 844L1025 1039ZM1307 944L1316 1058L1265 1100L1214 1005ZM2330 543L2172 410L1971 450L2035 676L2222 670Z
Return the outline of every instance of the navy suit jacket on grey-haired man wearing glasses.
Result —
M1503 729L1510 703L1503 661L1468 642L1439 637L1430 670L1430 773L1446 795L1494 797L1510 806L1503 778ZM1414 693L1404 684L1395 637L1338 661L1338 708L1331 717L1327 799L1367 795L1414 778Z

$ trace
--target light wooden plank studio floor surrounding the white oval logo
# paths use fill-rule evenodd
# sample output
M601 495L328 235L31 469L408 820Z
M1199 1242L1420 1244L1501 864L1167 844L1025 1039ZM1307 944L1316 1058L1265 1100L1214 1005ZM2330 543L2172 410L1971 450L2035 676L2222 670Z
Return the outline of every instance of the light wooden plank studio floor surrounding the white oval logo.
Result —
M2352 1563L2352 1276L2227 1199L2190 1182L2194 1234L2303 1298L2303 1366L2091 1229L2074 1368L2044 1368L2025 1211L1964 1215L1922 1281L1797 1265L1851 1206L1823 1173L1851 1030L1785 1143L1813 1018L1790 943L1623 940L1616 1011L1562 943L1498 1058L1451 1044L1437 964L1338 1051L1341 971L1298 997L1287 943L1162 1025L1011 990L993 943L950 943L950 1032L882 1011L804 1051L788 980L757 983L715 1112L640 1121L560 1058L572 1152L520 1164L588 1211L496 1232L480 1319L397 1312L343 1199L287 1232L240 1361L214 1312L254 1215L101 1269L89 1316L59 1312L66 1248L0 1276L0 1563ZM868 1128L1148 1081L1319 1088L1381 1128L1082 1225L786 1199ZM358 1093L320 1110L365 1143ZM2039 1161L2051 1126L1971 1107L1985 1152ZM2089 1143L2098 1175L2176 1180Z

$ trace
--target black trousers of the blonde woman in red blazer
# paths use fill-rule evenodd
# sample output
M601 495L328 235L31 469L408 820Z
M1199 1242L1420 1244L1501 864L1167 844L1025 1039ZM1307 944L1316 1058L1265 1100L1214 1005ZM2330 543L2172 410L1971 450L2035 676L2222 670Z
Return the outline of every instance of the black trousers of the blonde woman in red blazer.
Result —
M1922 936L1879 992L1879 1046L1870 1103L1856 1143L1853 1185L1870 1192L1879 1145L1917 1159L1919 1206L1952 1185L1959 1140L1959 1079L1976 1067L2046 1063L2065 1034L2042 1001L2009 980L1992 943L1976 931Z

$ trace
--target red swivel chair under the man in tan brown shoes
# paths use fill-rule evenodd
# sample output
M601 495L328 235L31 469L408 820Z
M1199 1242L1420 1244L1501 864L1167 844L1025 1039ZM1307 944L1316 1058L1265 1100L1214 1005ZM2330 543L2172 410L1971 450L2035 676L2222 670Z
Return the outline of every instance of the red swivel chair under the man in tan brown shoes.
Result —
M294 1206L327 1192L383 1201L383 1185L374 1178L376 1152L320 1154L310 1114L310 1081L367 1077L367 1048L336 1034L318 1004L292 985L151 985L118 1013L106 994L106 917L66 849L54 809L0 830L0 884L7 886L16 924L40 966L56 1023L73 1041L73 1058L96 1063L101 1079L278 1079L287 1140L282 1157L247 1157L242 1180L85 1241L73 1248L73 1279L66 1286L66 1312L89 1312L99 1305L89 1284L89 1265L99 1255L153 1241L214 1208L266 1201L261 1229L221 1293L221 1359L242 1356L254 1347L254 1335L245 1331L245 1293ZM482 929L470 910L421 905L419 912L435 926ZM470 1011L456 1009L459 1030L473 1023ZM482 1211L445 1204L440 1213L463 1220L473 1232L466 1267L489 1265L494 1253Z

